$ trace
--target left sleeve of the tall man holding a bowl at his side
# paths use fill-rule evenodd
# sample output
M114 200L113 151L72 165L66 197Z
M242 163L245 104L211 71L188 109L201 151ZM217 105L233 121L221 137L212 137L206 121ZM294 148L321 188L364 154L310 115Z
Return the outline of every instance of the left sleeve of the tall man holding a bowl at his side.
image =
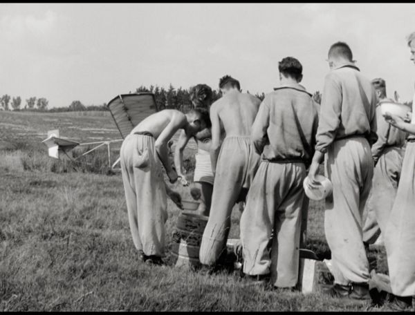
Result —
M327 148L335 140L342 113L342 87L329 73L324 79L320 120L317 128L315 150L326 153Z

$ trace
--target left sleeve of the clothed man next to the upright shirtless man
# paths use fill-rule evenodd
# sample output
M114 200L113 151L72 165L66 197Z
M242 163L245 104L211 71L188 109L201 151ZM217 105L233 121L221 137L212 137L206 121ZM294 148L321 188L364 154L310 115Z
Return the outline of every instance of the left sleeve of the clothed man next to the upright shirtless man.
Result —
M255 117L254 124L252 124L251 139L255 146L255 151L261 154L264 151L264 146L268 143L268 135L266 133L270 124L270 106L268 105L268 98L259 105L257 117Z

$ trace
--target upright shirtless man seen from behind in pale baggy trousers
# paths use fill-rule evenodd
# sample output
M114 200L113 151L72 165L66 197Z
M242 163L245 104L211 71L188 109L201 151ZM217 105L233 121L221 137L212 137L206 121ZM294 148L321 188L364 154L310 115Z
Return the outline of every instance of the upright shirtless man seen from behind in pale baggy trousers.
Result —
M223 97L210 107L210 157L215 177L210 216L199 254L203 265L214 265L225 252L232 207L246 196L259 165L259 154L250 133L261 100L241 93L239 82L228 75L221 78L219 88ZM221 125L226 134L222 145Z

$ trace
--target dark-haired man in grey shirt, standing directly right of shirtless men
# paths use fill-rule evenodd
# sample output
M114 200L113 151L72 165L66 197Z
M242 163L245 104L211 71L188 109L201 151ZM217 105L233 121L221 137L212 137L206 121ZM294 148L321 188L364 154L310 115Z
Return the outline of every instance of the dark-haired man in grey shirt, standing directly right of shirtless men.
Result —
M314 154L318 104L299 84L302 64L297 59L286 57L278 68L281 86L266 95L252 125L261 163L241 216L243 272L255 278L270 274L274 287L293 288L302 211L308 204L302 182Z

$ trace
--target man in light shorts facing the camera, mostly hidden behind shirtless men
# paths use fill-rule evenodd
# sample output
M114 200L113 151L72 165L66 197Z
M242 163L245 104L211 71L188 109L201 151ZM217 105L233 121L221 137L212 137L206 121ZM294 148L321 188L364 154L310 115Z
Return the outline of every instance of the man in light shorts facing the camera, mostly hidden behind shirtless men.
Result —
M197 84L190 90L190 100L194 108L205 108L209 111L212 102L212 88L206 84ZM210 203L213 191L213 173L210 164L210 145L212 143L212 132L210 130L210 120L206 124L206 128L192 137L197 144L197 153L195 155L196 165L194 166L194 187L192 188L192 196L200 200L199 208L196 210L202 216L209 216ZM183 151L190 135L182 131L178 137L175 153L174 165L176 166L177 175L181 184L187 186L187 178L183 173Z

